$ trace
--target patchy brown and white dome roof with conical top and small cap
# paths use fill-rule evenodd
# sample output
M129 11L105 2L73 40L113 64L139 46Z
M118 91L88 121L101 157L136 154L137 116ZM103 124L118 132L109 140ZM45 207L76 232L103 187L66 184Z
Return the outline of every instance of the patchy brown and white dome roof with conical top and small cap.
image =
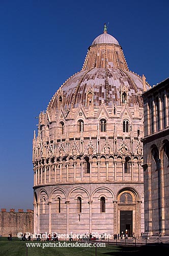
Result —
M143 108L141 94L147 89L150 89L150 85L145 77L129 71L122 47L113 36L107 34L107 27L104 26L103 34L96 37L89 47L81 71L62 84L47 109L58 108L60 97L64 99L64 109L78 108L81 104L86 107L89 94L93 95L94 108L103 102L107 106L121 105L124 93L128 106L139 105Z

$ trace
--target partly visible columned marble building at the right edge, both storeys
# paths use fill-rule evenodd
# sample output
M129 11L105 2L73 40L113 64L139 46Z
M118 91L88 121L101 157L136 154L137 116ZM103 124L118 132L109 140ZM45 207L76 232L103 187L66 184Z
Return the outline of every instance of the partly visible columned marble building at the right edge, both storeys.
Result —
M143 94L145 231L169 235L168 78Z

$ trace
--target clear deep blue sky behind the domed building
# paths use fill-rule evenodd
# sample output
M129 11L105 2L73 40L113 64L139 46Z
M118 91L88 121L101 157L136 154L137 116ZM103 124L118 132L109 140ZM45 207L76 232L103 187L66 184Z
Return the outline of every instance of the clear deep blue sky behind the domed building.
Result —
M169 76L168 11L167 0L0 0L0 209L33 209L35 117L81 70L104 23L129 70L151 86Z

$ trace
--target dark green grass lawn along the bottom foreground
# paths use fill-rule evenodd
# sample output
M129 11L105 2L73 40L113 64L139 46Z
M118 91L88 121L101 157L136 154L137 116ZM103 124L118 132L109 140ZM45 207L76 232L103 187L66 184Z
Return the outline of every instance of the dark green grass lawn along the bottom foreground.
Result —
M31 246L27 247L26 255L26 243ZM13 238L12 241L8 241L7 238L0 239L0 255L1 256L141 256L144 253L167 253L168 245L147 245L147 246L112 246L106 245L106 247L97 247L97 254L95 247L51 247L51 244L59 242L23 242L18 238ZM61 245L73 244L73 242L63 242ZM74 242L75 243L75 242ZM35 247L32 247L34 245ZM37 246L38 245L38 246ZM40 247L39 247L40 246ZM44 248L43 248L44 246ZM48 246L48 247L47 247ZM50 246L50 247L49 247Z

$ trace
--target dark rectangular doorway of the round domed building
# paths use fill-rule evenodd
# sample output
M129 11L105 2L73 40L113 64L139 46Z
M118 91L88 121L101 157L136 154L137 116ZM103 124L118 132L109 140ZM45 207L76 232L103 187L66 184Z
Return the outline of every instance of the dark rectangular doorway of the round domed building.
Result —
M128 237L132 236L132 224L133 224L133 211L121 210L120 211L120 233L127 233Z

